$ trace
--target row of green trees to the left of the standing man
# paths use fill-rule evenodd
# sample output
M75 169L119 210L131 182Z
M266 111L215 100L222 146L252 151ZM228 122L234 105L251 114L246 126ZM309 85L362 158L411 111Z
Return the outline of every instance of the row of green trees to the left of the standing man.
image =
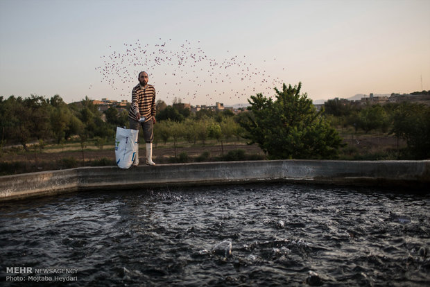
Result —
M0 97L0 139L1 145L21 144L26 150L33 141L65 142L71 137L85 142L95 137L112 138L114 126L126 122L126 114L119 114L112 108L101 112L85 98L79 104L67 105L60 96L52 98L32 95L30 98Z

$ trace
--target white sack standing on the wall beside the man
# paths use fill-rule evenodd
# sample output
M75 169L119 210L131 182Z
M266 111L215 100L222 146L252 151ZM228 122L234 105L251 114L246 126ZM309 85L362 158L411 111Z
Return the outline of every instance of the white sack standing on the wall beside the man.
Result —
M129 168L135 160L139 130L117 127L115 158L119 168Z

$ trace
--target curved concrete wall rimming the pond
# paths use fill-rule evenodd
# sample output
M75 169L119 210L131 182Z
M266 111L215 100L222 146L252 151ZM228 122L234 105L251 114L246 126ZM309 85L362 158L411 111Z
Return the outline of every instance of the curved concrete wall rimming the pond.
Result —
M0 177L0 201L85 190L246 182L430 186L430 161L275 160L72 168Z

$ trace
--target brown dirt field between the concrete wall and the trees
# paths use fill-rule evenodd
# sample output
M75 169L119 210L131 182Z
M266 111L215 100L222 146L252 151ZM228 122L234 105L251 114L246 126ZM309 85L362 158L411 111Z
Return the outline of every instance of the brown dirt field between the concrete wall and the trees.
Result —
M341 148L339 159L346 160L383 160L401 159L401 150L406 143L392 135L381 133L339 130L345 146ZM140 144L139 158L145 160L145 145ZM256 144L248 145L244 139L232 138L221 142L214 139L205 143L179 141L173 143L154 143L153 159L157 164L178 162L216 162L231 160L266 159L264 152ZM22 146L3 147L0 153L0 175L31 173L74 168L78 166L110 166L115 164L114 143L96 146L95 141L68 141L65 144L33 144L28 150Z

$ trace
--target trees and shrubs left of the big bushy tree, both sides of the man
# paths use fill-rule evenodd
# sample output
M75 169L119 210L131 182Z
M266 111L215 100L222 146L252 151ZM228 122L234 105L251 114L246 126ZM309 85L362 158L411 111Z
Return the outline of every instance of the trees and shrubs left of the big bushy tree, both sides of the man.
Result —
M178 140L184 139L190 143L205 143L213 138L222 145L240 134L239 124L230 111L203 110L191 115L189 109L178 111L163 101L157 102L157 110L160 110L155 125L157 142L166 143L172 139L176 145ZM67 105L58 95L50 99L35 95L29 98L10 96L6 100L0 97L0 115L1 145L19 143L26 150L28 143L34 141L64 143L72 137L83 144L96 139L103 146L113 142L117 126L128 126L128 108L110 107L101 113L88 98Z

